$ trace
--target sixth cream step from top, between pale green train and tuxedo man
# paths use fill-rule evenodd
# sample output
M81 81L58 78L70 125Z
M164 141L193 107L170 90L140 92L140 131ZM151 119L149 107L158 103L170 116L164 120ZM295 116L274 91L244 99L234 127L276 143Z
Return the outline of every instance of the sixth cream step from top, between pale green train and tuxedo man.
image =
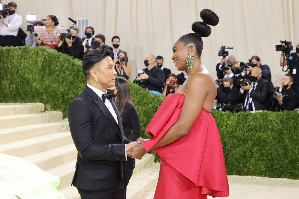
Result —
M60 178L59 189L64 189L71 185L76 170L76 160L50 169L47 172Z

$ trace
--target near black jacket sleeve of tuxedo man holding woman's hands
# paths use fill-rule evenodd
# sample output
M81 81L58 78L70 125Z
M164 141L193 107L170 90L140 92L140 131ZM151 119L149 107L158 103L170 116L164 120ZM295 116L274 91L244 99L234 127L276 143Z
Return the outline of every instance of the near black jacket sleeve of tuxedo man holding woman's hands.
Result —
M92 130L92 113L81 101L74 100L68 108L71 136L78 154L85 160L125 161L125 144L96 144ZM118 160L117 160L118 159Z

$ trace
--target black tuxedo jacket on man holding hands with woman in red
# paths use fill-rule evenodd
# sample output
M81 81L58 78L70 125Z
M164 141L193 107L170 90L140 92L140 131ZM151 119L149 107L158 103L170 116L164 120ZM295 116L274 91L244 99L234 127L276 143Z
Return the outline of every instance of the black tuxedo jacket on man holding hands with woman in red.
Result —
M118 124L100 97L88 86L68 108L71 136L78 151L72 184L84 190L105 190L122 180L126 160L123 125L112 99Z

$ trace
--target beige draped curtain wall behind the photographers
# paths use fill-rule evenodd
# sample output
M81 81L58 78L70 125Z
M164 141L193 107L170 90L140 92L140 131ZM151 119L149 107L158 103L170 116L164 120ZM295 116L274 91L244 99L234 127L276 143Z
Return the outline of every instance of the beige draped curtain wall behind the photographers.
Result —
M172 45L183 34L192 32L194 21L202 21L200 10L210 8L218 13L220 21L212 27L212 34L203 38L202 64L216 78L219 62L217 49L223 44L234 46L229 50L239 61L252 55L260 56L268 64L272 82L278 85L285 72L279 66L280 52L275 52L279 40L299 42L298 0L14 0L23 17L35 13L38 19L56 15L60 25L70 26L71 18L89 18L95 32L106 36L111 45L114 35L120 36L120 48L126 50L132 66L131 79L144 68L147 53L164 57L164 65L178 74L172 61ZM3 3L9 1L3 0ZM295 13L297 8L297 13Z

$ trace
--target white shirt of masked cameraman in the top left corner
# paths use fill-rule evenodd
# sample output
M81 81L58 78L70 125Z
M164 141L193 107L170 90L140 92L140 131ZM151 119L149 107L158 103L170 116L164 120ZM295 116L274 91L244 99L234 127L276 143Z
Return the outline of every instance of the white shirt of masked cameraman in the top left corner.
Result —
M4 22L7 23L7 27L0 22L0 35L17 36L19 28L22 25L23 18L17 13L14 13L13 15L7 15L7 17L4 18Z

